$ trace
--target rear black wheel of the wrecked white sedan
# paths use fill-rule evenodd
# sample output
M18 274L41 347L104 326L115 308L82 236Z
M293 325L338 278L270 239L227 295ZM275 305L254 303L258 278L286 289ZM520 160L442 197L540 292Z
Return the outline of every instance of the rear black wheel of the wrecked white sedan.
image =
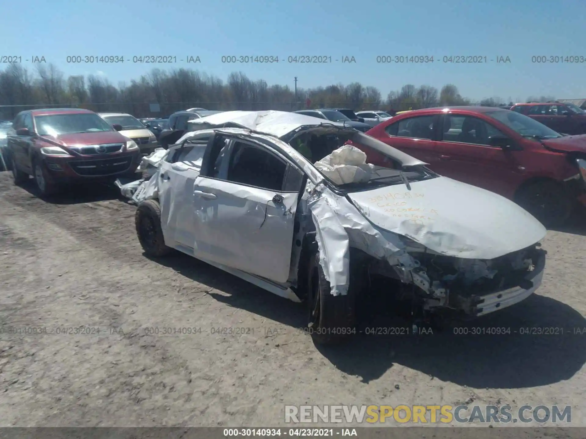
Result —
M138 241L148 256L160 258L172 251L165 245L161 229L161 207L155 200L145 200L138 204L134 214Z

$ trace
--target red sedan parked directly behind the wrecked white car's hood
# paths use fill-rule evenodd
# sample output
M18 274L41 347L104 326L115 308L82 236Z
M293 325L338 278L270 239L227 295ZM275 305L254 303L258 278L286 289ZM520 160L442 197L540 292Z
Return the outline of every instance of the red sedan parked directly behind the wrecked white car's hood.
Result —
M420 109L367 134L429 163L438 174L515 200L545 225L564 222L576 200L586 205L586 136L561 135L515 111ZM365 152L379 164L376 152Z

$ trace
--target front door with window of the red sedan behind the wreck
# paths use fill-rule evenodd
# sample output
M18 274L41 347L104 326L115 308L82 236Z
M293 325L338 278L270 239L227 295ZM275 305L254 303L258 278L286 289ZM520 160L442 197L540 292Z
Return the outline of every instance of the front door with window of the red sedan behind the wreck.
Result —
M440 162L432 169L445 177L459 180L512 197L523 181L522 150L503 150L490 145L490 137L508 137L496 126L476 116L442 115L437 149ZM514 141L511 139L511 142Z

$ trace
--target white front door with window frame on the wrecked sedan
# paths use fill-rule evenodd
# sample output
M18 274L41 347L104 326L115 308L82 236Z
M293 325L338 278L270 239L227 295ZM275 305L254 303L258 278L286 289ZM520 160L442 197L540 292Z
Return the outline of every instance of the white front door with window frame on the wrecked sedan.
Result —
M303 174L254 140L216 133L211 142L193 185L195 256L287 282Z

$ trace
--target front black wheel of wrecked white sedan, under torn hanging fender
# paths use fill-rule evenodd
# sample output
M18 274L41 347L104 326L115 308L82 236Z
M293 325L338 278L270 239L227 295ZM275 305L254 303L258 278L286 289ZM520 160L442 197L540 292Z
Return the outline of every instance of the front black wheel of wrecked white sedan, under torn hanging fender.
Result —
M329 281L319 264L319 253L308 264L308 332L317 344L338 344L356 334L356 300L362 275L350 258L350 285L345 296L332 296Z

